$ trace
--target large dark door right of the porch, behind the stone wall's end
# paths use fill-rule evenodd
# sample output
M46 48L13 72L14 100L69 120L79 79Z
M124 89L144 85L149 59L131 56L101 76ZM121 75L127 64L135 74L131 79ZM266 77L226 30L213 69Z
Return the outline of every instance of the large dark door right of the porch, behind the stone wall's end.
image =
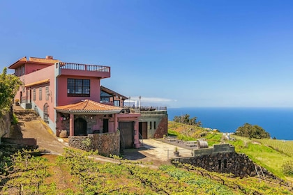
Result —
M119 122L121 149L133 148L134 122Z

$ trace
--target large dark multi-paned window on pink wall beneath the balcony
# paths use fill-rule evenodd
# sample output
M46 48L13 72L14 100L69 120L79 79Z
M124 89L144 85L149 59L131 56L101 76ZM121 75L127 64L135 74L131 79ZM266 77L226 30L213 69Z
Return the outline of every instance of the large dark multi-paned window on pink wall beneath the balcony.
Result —
M89 79L67 79L68 97L89 97Z

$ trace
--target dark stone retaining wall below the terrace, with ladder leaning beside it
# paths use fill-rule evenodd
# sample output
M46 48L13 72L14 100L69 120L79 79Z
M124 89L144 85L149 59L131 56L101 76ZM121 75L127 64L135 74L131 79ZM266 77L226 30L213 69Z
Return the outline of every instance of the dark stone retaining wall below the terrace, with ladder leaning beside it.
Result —
M240 178L257 176L257 173L259 173L260 178L287 185L284 180L277 178L264 167L255 164L247 155L235 153L234 147L229 144L215 144L212 148L194 150L194 154L193 157L173 159L173 162L191 164L202 167L207 171L232 173Z

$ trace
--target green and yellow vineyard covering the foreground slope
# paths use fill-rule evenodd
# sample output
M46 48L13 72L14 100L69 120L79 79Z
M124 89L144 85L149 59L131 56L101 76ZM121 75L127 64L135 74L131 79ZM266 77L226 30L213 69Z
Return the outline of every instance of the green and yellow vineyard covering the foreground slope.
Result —
M102 163L66 149L48 161L29 151L1 161L1 194L292 194L257 178L232 178L186 164L160 166L121 160Z

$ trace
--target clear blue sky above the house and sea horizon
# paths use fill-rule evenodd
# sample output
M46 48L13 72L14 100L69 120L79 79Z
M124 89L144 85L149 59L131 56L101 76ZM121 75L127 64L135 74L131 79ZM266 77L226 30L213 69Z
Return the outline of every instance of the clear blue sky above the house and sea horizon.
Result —
M293 1L1 1L0 68L109 65L143 105L293 107Z

